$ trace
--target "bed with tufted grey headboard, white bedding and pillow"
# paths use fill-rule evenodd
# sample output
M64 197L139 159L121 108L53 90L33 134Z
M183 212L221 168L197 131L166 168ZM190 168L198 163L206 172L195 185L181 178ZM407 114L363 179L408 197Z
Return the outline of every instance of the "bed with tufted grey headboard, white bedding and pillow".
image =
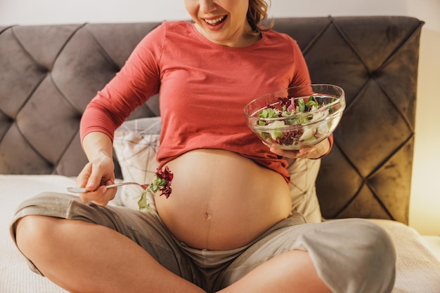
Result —
M27 269L9 236L13 211L40 191L75 185L86 163L86 104L159 24L0 27L0 292L64 292ZM341 86L347 99L330 154L291 162L292 209L311 222L361 217L383 226L396 245L396 293L440 292L440 262L408 226L422 25L403 16L329 16L277 18L274 27L298 41L313 83ZM148 100L117 132L120 181L155 170L158 104ZM313 169L316 184L295 176L302 168ZM119 189L111 204L136 208L128 195Z

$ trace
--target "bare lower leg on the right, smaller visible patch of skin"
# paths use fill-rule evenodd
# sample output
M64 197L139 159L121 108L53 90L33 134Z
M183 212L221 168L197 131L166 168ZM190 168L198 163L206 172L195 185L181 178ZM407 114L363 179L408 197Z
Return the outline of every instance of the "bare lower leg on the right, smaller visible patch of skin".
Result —
M327 293L331 290L318 277L309 253L292 250L266 261L220 292Z

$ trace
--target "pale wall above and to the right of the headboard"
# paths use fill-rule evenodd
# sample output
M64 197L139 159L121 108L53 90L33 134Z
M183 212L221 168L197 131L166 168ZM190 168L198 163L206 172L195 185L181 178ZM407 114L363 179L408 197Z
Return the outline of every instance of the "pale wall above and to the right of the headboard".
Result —
M0 0L1 25L188 19L183 0ZM409 15L426 22L420 45L410 226L440 235L440 0L273 0L274 17Z

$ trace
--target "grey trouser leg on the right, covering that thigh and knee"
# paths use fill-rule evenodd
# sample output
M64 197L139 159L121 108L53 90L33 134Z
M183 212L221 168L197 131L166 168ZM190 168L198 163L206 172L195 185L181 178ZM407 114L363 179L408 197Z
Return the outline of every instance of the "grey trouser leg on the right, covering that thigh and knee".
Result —
M240 280L272 257L304 250L333 292L391 291L395 278L394 246L380 226L363 219L297 222L286 219L278 224L278 229L257 240L222 273L217 289Z

